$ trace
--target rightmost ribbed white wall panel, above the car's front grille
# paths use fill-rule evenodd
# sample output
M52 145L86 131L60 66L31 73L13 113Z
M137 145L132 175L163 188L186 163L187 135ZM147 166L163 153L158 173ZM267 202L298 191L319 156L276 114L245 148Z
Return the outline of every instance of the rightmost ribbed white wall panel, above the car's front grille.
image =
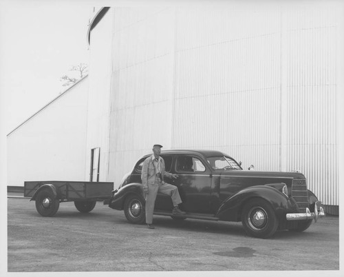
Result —
M336 23L334 8L284 10L286 168L301 170L327 205L338 205Z

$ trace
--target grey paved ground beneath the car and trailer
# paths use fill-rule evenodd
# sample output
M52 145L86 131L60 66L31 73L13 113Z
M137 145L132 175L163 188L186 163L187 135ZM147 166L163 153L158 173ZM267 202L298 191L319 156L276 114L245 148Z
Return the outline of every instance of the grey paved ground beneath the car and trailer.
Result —
M339 269L338 217L303 233L251 238L241 223L154 216L132 225L98 202L89 214L61 203L42 217L34 201L8 199L8 271L231 271ZM321 258L319 258L321 257Z

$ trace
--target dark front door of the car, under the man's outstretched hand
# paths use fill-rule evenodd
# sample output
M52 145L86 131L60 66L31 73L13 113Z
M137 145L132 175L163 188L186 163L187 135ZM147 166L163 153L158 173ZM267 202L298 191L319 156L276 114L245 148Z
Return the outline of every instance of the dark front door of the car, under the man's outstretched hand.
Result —
M211 213L211 171L200 156L180 154L175 157L175 173L178 178L173 181L182 198L182 208L190 213Z

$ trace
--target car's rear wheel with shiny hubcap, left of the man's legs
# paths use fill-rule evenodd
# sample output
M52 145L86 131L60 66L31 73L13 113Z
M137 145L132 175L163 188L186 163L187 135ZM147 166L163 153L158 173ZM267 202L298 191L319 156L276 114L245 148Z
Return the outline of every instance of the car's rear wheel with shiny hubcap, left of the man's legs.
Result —
M140 196L129 195L125 199L125 217L130 223L144 224L146 214L144 210L144 200Z

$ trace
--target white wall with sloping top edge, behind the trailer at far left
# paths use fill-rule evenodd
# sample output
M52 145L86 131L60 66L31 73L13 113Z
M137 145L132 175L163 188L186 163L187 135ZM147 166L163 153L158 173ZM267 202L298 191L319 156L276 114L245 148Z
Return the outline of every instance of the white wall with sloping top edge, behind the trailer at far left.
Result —
M85 77L8 135L8 185L84 180L87 88Z

